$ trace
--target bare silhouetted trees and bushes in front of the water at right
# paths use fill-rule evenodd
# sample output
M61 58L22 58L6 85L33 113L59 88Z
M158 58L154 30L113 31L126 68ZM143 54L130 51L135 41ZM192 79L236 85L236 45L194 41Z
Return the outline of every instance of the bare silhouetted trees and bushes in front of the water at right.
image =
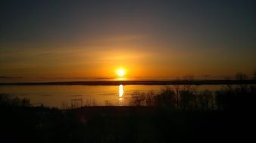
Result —
M256 72L254 73L254 75ZM238 81L245 81L248 76L237 73ZM193 81L192 75L185 76L183 80ZM155 106L183 110L230 110L251 109L256 97L256 86L248 84L226 84L220 90L196 90L195 85L172 85L164 86L160 93L149 91L132 94L130 104L135 106Z

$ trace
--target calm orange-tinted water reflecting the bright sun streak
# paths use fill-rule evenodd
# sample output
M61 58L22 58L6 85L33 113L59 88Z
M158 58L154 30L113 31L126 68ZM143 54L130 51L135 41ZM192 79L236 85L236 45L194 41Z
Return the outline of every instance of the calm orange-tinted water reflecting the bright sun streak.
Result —
M129 105L134 92L147 93L150 90L160 92L162 85L5 85L0 93L28 98L33 105L45 105L61 108L63 103L78 105ZM170 86L172 87L172 86ZM182 86L181 86L182 87ZM220 85L195 86L197 90L218 90Z

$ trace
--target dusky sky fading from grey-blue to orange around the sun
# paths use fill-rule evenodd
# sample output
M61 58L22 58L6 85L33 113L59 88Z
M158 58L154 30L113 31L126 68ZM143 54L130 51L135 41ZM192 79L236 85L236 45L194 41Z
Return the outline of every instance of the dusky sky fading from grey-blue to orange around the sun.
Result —
M255 1L1 1L0 80L223 78L256 69Z

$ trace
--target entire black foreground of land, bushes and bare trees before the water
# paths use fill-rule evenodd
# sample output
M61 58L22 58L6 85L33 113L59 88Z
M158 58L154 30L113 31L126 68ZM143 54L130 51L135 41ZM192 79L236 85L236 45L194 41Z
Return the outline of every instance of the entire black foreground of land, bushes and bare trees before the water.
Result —
M0 135L6 142L254 142L254 85L212 93L192 85L134 93L130 107L32 107L0 96Z

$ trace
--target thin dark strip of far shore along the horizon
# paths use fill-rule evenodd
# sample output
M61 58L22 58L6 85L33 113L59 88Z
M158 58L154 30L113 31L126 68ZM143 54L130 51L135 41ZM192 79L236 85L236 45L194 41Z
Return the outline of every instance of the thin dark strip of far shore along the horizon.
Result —
M256 84L256 80L195 80L195 81L55 81L55 82L15 82L1 85L223 85Z

